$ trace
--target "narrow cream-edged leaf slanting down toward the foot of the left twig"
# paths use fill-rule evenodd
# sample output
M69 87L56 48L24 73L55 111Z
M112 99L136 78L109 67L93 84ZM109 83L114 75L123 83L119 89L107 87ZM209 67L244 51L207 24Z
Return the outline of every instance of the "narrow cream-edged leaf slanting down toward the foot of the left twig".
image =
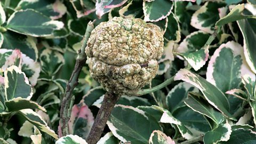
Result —
M49 126L47 126L42 117L35 113L35 111L32 109L22 109L19 110L18 113L25 117L31 124L35 125L40 131L51 135L54 139L58 139L58 135L55 134L55 132L51 130Z

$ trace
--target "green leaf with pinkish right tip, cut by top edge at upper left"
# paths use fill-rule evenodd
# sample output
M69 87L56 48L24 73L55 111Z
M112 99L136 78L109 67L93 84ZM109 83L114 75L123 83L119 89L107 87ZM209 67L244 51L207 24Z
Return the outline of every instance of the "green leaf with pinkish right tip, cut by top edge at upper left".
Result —
M17 8L17 10L33 9L51 19L59 19L67 12L67 7L61 1L22 0L19 2Z

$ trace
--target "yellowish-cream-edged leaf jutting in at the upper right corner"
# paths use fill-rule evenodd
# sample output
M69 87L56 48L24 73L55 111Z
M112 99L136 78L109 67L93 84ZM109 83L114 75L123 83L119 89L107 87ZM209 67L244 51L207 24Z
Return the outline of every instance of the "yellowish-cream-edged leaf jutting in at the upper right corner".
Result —
M241 19L248 19L248 18L256 18L253 15L245 15L243 14L244 10L244 4L238 4L234 7L234 9L232 9L228 15L226 15L225 17L221 18L220 20L218 20L216 22L216 26L223 26L229 22L233 22L233 21L237 21L237 20L241 20Z

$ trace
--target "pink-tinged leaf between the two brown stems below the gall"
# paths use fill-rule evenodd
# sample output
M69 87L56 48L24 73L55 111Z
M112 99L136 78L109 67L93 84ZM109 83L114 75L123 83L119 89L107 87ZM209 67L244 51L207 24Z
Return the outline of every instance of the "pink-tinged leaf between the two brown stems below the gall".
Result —
M74 105L68 121L69 133L86 139L93 122L94 118L91 110L84 103Z

